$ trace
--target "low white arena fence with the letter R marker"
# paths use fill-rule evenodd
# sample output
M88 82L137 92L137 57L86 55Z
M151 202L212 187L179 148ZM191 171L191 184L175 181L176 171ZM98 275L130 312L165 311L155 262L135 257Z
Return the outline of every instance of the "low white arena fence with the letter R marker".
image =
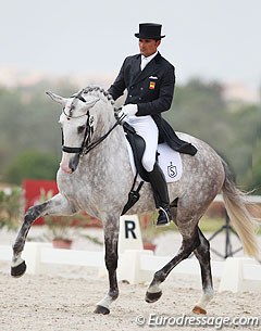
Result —
M169 263L173 256L156 256L142 249L139 220L136 215L122 216L119 240L119 280L132 284L147 283L153 273ZM99 277L105 277L104 253L79 250L53 249L50 243L26 242L22 257L27 264L27 273L37 275L44 264L97 268ZM0 260L10 262L12 247L0 245ZM225 262L212 262L212 275L220 278L219 291L261 292L261 265L253 258L227 257ZM200 276L198 260L186 259L172 273Z

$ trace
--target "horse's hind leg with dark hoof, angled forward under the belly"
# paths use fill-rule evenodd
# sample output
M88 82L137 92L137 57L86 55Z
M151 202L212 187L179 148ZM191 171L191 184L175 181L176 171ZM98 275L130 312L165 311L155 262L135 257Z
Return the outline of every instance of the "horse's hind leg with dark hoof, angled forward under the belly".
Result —
M153 303L161 297L162 291L160 289L160 284L165 280L167 275L177 264L179 264L183 259L187 258L196 250L199 243L200 242L199 242L199 234L197 228L192 231L190 238L183 237L182 246L177 255L170 263L167 263L161 270L154 273L153 280L150 283L146 293L145 300L148 303Z

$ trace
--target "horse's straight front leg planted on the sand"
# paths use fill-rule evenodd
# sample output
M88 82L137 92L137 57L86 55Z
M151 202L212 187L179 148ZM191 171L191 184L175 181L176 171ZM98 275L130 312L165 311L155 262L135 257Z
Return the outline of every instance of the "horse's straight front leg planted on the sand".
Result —
M120 217L119 217L120 219ZM119 296L116 268L117 268L117 241L119 241L119 221L115 224L105 224L104 244L105 244L105 266L109 273L109 292L102 298L95 309L97 314L110 314L110 305Z

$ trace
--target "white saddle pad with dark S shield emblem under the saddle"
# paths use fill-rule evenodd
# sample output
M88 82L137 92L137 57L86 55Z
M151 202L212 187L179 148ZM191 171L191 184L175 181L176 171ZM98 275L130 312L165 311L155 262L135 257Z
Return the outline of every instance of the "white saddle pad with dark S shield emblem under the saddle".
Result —
M128 150L128 156L130 166L133 169L134 175L136 174L136 166L134 163L134 156L133 156L133 150L127 142L127 150ZM166 182L173 182L181 179L183 174L183 164L182 164L182 157L178 152L173 151L166 143L160 143L158 145L158 152L159 152L159 165L165 175ZM139 180L141 180L140 177L138 177Z

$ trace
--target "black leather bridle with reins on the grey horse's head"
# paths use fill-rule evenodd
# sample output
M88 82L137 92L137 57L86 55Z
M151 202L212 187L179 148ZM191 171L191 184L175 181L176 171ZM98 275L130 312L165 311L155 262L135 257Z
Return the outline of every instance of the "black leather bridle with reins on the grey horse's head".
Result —
M86 102L86 100L84 99L84 97L80 96L80 93L77 96L73 96L72 98L77 98L80 101ZM97 100L97 101L99 101L99 100ZM95 104L92 106L95 106ZM63 131L62 131L62 151L63 152L78 154L79 156L84 156L84 155L88 154L91 150L94 150L98 144L100 144L115 129L115 127L121 124L121 122L116 118L116 123L109 129L109 131L107 133L104 133L99 139L91 142L91 137L94 135L94 116L90 115L90 113L89 113L90 109L88 109L86 114L83 114L79 116L67 115L63 109L63 113L67 117L67 119L87 116L86 124L85 124L84 139L83 139L80 148L70 148L70 147L64 145L64 138L63 138Z

